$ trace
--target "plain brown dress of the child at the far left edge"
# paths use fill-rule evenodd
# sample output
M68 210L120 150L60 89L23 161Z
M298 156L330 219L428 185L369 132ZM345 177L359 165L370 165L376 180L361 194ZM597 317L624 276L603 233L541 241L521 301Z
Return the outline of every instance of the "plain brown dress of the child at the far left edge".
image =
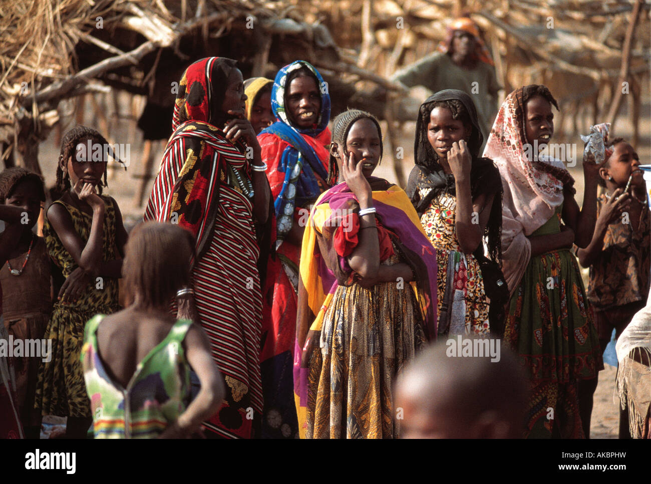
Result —
M9 259L8 263L12 268L20 270L25 255L26 252ZM14 341L38 339L45 342L42 338L52 306L50 261L45 240L35 236L29 261L20 276L10 274L9 264L0 269L0 283L4 288L3 317L7 334L13 336ZM40 358L33 354L11 358L16 372L16 399L24 427L40 427L40 412L34 408L34 397L38 368L42 360L47 359L47 349L47 345L40 346Z

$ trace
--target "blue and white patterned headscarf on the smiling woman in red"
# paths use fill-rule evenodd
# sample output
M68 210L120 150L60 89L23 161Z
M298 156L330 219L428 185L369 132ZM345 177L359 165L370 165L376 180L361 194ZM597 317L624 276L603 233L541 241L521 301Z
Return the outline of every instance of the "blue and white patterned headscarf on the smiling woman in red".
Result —
M311 128L295 126L285 110L284 94L289 87L288 79L292 72L303 67L310 70L316 79L316 87L321 93L321 110L318 122ZM271 109L277 121L268 128L264 128L260 135L273 134L288 143L277 162L278 166L273 167L285 174L283 188L273 203L277 220L276 245L279 246L294 224L296 200L315 200L322 192L314 173L323 180L327 178L326 168L321 161L323 156L318 156L316 143L311 143L306 139L306 136L314 138L320 137L322 134L328 134L329 138L329 130L326 132L327 124L330 121L330 95L327 84L312 64L305 61L294 61L284 66L276 74L273 89L271 89ZM323 147L319 150L327 153ZM275 160L273 161L275 162Z

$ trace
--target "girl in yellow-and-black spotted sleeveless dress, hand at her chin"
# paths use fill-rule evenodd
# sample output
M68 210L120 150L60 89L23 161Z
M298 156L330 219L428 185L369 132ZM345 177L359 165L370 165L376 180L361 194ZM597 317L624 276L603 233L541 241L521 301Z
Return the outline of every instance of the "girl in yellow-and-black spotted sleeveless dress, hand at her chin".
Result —
M79 361L84 325L97 313L120 309L117 279L127 233L117 203L102 195L108 146L85 126L66 133L57 167L63 195L43 227L49 256L66 280L44 335L52 340L52 355L38 375L35 406L42 415L67 416L68 438L85 437L92 421Z

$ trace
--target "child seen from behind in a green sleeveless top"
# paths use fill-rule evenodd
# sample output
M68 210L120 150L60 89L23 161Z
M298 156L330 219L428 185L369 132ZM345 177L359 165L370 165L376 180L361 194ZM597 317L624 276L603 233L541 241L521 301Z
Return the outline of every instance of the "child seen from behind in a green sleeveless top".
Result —
M186 438L223 403L225 386L198 324L169 302L190 284L195 241L178 225L145 222L126 246L128 307L96 315L81 350L95 438ZM201 382L189 403L190 369Z

